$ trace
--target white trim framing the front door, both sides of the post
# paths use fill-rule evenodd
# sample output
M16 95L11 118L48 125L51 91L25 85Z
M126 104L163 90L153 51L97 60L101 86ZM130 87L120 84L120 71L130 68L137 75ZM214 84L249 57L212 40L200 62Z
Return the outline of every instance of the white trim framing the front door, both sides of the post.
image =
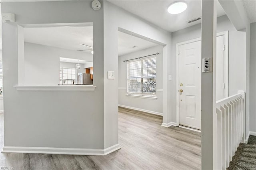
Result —
M228 97L228 31L224 32L219 32L217 33L218 36L224 36L224 84L225 84L225 89L224 89L224 96ZM179 109L179 92L178 90L180 89L179 85L179 45L184 45L187 43L192 43L192 42L198 42L201 41L201 38L196 38L193 40L188 40L185 42L180 42L176 43L176 123L177 126L180 125L180 109Z

